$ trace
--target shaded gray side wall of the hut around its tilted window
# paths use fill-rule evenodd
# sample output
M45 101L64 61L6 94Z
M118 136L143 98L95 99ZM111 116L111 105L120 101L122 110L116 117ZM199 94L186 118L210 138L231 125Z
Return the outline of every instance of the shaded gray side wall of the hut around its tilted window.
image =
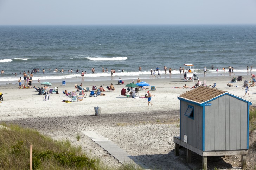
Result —
M187 143L198 148L202 148L202 123L203 123L203 107L181 101L180 107L180 138L183 141L183 135L187 135ZM194 106L194 119L185 116L188 105Z

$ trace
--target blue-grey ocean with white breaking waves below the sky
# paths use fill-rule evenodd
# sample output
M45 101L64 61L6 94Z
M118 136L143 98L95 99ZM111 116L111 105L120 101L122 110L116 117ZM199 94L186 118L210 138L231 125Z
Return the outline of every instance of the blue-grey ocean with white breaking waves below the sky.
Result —
M204 66L207 74L221 74L229 66L243 74L247 66L255 71L255 59L256 25L0 26L0 70L5 71L0 81L17 81L34 68L39 69L34 79L41 80L81 78L82 71L85 79L104 79L111 69L122 78L149 76L156 67L164 74L164 66L167 74L172 68L179 75L184 64L193 64L196 74ZM102 67L108 72L102 73Z

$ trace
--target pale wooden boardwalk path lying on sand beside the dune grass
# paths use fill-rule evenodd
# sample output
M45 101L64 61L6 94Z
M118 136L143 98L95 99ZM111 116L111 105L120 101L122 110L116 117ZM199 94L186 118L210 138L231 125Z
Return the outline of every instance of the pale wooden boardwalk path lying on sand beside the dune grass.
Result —
M89 138L91 138L92 141L100 145L105 151L107 151L111 156L117 159L121 164L134 162L141 168L148 169L135 157L129 155L126 151L114 144L108 138L105 138L104 136L97 134L94 131L82 131L82 133L87 135Z

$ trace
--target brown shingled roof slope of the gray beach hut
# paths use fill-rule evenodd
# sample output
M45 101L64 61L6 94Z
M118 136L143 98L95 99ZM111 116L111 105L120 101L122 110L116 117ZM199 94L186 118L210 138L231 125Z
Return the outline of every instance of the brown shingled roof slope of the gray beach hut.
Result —
M193 90L187 91L186 93L181 94L179 97L191 100L197 103L203 103L212 98L215 98L219 95L226 93L226 91L217 90L215 88L200 86Z

